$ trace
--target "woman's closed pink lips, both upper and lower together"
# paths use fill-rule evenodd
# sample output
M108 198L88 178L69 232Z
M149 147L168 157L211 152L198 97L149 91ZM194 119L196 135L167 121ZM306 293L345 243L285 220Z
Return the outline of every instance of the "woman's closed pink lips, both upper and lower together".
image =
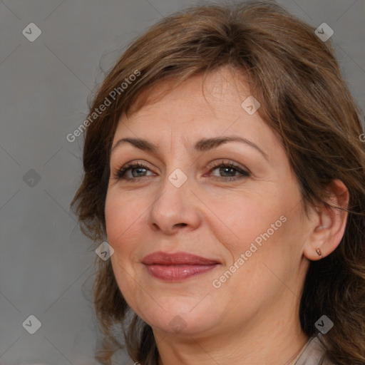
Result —
M142 263L153 277L167 282L176 282L203 274L217 267L216 260L206 259L187 252L153 252L143 258Z

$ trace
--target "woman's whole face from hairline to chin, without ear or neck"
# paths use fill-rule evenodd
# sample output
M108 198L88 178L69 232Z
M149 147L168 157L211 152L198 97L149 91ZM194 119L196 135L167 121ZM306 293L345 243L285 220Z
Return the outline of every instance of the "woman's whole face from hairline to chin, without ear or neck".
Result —
M154 331L269 330L296 318L309 263L299 186L245 81L221 68L204 91L195 76L121 116L106 197L113 272Z

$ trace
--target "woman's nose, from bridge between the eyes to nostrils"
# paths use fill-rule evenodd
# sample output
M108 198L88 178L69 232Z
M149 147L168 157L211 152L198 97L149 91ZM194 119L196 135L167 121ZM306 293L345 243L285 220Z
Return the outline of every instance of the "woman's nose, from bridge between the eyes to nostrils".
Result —
M166 176L150 208L148 225L155 232L174 235L181 229L195 230L201 222L200 200L191 191L189 179L180 187Z

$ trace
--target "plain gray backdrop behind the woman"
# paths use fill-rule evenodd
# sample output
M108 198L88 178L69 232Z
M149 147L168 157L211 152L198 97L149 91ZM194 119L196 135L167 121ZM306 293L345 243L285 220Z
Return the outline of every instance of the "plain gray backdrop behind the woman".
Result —
M279 2L309 24L334 29L341 71L365 110L365 1ZM190 4L0 1L1 365L97 364L89 294L96 254L69 210L81 182L83 137L70 143L66 135L86 118L88 96L128 42ZM34 42L22 34L31 22L42 31ZM41 180L29 180L31 169ZM42 324L35 334L22 326L31 314ZM119 364L133 361L122 356Z

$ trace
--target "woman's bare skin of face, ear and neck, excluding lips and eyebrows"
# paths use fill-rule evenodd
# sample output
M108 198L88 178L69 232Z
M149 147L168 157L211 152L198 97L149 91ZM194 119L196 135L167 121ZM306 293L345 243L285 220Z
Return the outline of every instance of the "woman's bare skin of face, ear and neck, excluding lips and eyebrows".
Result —
M159 364L291 364L308 340L299 324L299 299L309 260L339 245L346 212L321 207L305 215L279 138L259 113L249 115L241 107L250 96L243 76L220 68L205 79L204 95L202 81L189 78L120 118L113 145L120 138L143 138L155 143L158 153L123 143L111 154L105 212L113 272L129 306L153 328ZM151 95L166 87L161 83ZM191 149L200 138L226 135L247 138L267 159L240 142L205 152ZM212 165L222 160L248 169L250 176ZM148 168L116 178L129 162ZM181 187L168 179L177 168L187 177ZM346 207L348 200L346 187L336 180L331 202ZM282 216L286 222L226 282L213 287ZM220 265L181 282L163 282L141 263L160 250L190 252ZM173 319L182 331L170 325Z

